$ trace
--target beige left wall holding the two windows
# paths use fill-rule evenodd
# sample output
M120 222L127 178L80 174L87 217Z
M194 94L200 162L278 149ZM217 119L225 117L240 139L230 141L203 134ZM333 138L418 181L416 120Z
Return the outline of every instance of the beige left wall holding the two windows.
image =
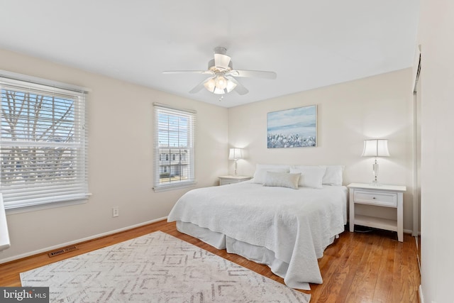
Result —
M0 69L89 87L86 204L9 214L11 248L0 263L62 243L167 216L189 189L153 192L153 102L195 109L197 187L228 172L228 111L150 88L0 50ZM112 217L118 206L120 216Z

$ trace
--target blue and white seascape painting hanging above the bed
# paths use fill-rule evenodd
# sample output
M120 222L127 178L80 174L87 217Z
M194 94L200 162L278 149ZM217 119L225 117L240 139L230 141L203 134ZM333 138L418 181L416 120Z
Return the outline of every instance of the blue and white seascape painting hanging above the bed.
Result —
M267 114L268 148L317 146L317 106L273 111Z

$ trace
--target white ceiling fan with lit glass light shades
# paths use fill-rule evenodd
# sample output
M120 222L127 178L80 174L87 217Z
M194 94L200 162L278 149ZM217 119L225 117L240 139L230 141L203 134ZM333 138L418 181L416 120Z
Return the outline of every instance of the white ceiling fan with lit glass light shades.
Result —
M275 72L266 72L263 70L233 70L231 57L226 55L227 50L223 47L214 48L214 59L208 62L208 70L173 70L165 71L164 74L203 74L210 75L207 79L200 82L189 91L191 94L199 92L206 88L214 94L227 94L235 90L238 94L248 94L243 84L240 84L236 77L253 77L262 79L276 79Z

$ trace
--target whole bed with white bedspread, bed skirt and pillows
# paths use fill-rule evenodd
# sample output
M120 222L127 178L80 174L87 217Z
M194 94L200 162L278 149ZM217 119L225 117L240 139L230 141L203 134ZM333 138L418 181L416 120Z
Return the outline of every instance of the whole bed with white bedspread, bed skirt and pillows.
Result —
M228 253L266 264L292 288L323 282L318 260L347 224L343 166L257 165L252 180L193 189L167 221Z

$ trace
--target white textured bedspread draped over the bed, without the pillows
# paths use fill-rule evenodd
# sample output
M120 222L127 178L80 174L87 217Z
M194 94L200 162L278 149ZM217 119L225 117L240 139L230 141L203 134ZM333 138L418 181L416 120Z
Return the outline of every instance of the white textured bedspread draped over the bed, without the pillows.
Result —
M317 259L344 231L346 206L346 187L289 189L241 182L187 192L167 220L272 250L289 265L285 284L301 288L301 283L322 282Z

